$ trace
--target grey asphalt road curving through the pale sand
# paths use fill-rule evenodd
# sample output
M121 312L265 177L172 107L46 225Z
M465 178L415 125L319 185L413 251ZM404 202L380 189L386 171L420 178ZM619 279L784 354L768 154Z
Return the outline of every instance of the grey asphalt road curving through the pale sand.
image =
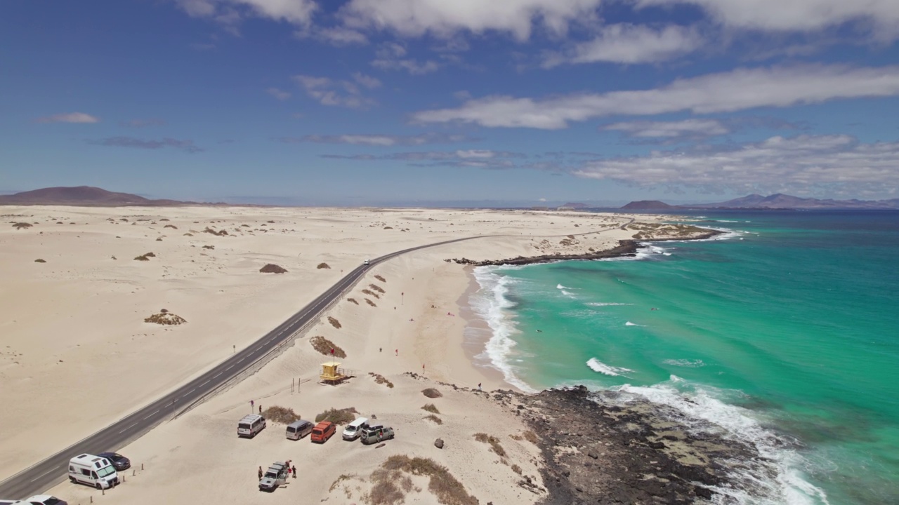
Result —
M487 235L483 235L487 236ZM387 261L400 254L409 253L435 245L461 242L472 236L439 242L437 244L420 245L396 253L390 253L369 261L369 265L360 265L352 270L337 284L334 284L321 296L303 307L297 314L268 332L263 338L255 341L244 350L236 352L217 367L212 368L200 377L163 398L150 403L146 407L131 413L129 416L97 431L90 437L66 447L53 456L49 456L37 465L31 466L0 483L0 500L24 500L25 498L44 492L50 487L67 479L68 460L80 454L97 454L104 451L117 451L130 441L138 439L162 421L172 419L174 415L202 400L207 394L214 392L220 385L236 377L251 367L258 359L263 358L271 350L293 338L293 334L305 324L314 322L335 300L342 297L362 278L367 270L382 261ZM65 420L61 420L64 422ZM127 472L125 473L127 475Z

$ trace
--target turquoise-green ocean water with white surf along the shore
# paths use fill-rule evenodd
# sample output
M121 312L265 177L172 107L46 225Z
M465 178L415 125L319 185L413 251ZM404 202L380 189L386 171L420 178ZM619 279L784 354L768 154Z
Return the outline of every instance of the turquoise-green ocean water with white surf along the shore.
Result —
M476 269L492 330L477 359L525 389L616 389L751 442L769 478L722 502L899 503L899 212L703 218L728 233Z

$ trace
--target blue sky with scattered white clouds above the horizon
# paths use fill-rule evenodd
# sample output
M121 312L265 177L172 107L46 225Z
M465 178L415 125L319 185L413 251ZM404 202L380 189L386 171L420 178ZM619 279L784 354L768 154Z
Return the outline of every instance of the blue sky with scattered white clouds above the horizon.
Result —
M0 190L897 198L895 0L0 3Z

